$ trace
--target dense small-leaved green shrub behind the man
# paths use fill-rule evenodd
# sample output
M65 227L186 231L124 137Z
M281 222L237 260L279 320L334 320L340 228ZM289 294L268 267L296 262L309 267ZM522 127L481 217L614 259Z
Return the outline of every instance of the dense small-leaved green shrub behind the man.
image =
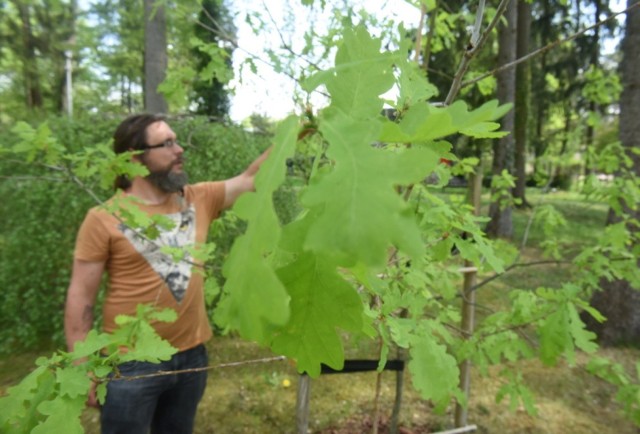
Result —
M71 152L109 141L121 119L50 118L52 135ZM192 182L225 179L244 170L269 146L269 138L234 125L206 119L170 120L186 148ZM18 137L3 132L11 148ZM52 181L58 174L38 164L0 161L3 226L0 231L0 352L61 345L66 289L73 261L75 236L86 211L95 201L83 188ZM87 185L102 199L113 192L98 183ZM286 188L276 195L283 219L294 211ZM233 239L243 227L228 219L213 234L218 245L214 268L219 270ZM221 278L221 276L217 276ZM96 312L99 317L99 312Z

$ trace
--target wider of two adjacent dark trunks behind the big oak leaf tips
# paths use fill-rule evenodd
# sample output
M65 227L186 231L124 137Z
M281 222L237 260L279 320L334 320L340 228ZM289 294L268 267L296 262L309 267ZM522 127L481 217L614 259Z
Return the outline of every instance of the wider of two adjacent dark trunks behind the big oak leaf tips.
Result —
M507 24L500 24L498 28L498 64L505 65L513 62L516 58L516 22L518 3L509 3L504 17ZM498 74L498 100L501 104L514 103L516 92L516 71L509 68ZM503 170L513 173L513 150L514 150L514 113L511 110L502 120L502 129L510 134L500 138L493 145L493 176L499 176ZM491 220L487 225L487 234L493 237L510 238L513 234L512 206L504 205L503 201L511 196L512 192L505 192L503 197L495 199L489 207L489 217ZM492 197L494 195L492 194Z

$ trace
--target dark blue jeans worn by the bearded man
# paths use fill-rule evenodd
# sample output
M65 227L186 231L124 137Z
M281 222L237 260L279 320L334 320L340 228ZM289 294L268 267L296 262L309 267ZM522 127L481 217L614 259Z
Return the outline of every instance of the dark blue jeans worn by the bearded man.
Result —
M128 377L207 365L207 350L199 345L166 362L127 362L119 369ZM206 384L207 371L109 381L100 415L102 434L191 434Z

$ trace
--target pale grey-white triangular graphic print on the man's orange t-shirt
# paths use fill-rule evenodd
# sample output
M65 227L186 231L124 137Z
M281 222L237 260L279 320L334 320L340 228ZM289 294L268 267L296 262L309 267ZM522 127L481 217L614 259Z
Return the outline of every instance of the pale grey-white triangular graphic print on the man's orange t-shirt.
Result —
M170 229L159 228L160 235L151 241L146 240L136 231L125 224L118 225L118 229L129 240L138 253L149 263L151 268L158 273L171 291L178 303L182 302L189 280L191 280L192 257L185 252L184 260L174 262L173 258L161 251L164 246L189 247L196 241L196 211L193 205L188 209L175 214L167 214L174 226Z

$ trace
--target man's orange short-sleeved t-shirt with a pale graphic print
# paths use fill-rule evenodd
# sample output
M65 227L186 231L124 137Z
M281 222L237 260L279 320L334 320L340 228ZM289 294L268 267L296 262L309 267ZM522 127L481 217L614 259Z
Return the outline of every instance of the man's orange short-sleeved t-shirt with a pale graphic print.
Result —
M196 261L188 254L185 260L174 262L160 246L205 243L209 226L220 214L223 203L224 183L203 182L186 186L184 200L172 195L164 204L136 204L149 215L163 214L174 222L175 227L160 229L160 235L151 242L101 207L89 210L78 232L75 257L105 261L109 274L103 307L106 332L116 328L117 315L135 315L136 306L143 303L176 311L175 322L152 325L179 351L211 338L202 270L196 269Z

